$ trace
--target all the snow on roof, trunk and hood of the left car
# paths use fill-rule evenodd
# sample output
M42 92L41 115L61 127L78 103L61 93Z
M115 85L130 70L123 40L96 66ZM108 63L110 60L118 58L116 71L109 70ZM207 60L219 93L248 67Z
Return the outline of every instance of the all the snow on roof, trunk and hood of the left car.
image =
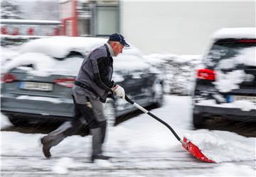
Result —
M18 55L4 63L1 72L8 72L15 67L32 64L29 71L38 76L49 74L77 75L82 57L69 57L58 61L55 58L65 58L71 51L81 52L87 55L95 47L107 42L105 38L82 38L82 37L53 37L32 40L21 46ZM73 67L70 67L70 66ZM26 69L22 67L22 69ZM136 47L124 47L123 53L114 57L114 71L134 71L149 69L142 55ZM28 68L26 69L28 70Z

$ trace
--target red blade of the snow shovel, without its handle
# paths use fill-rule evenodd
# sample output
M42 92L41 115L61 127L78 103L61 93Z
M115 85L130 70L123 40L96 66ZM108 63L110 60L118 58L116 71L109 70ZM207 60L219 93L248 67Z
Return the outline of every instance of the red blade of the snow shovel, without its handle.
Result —
M215 161L208 159L208 157L206 157L195 144L188 141L188 139L186 139L186 137L183 137L183 142L185 142L186 144L183 144L182 146L188 152L190 152L193 156L196 156L197 159L199 159L201 161L216 163Z

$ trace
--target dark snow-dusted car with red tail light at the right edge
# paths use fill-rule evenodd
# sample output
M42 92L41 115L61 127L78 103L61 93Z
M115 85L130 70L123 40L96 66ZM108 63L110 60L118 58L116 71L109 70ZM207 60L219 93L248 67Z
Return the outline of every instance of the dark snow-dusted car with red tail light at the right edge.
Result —
M256 121L255 28L223 28L213 34L198 69L193 93L193 125L209 118Z

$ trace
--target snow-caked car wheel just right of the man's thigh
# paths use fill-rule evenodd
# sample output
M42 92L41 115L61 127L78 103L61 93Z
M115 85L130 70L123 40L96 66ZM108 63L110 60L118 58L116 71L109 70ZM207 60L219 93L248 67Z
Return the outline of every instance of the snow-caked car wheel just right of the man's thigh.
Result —
M115 108L114 101L111 98L107 98L106 103L103 107L105 118L107 119L108 125L110 127L114 126L115 123Z

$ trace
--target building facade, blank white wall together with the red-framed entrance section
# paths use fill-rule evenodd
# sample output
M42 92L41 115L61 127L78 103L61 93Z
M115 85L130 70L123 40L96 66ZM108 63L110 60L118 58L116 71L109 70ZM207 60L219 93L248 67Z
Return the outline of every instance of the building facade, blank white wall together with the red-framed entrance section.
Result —
M62 17L65 35L104 37L119 32L145 54L202 55L215 30L255 27L253 0L68 1L76 4L70 5L76 21Z

